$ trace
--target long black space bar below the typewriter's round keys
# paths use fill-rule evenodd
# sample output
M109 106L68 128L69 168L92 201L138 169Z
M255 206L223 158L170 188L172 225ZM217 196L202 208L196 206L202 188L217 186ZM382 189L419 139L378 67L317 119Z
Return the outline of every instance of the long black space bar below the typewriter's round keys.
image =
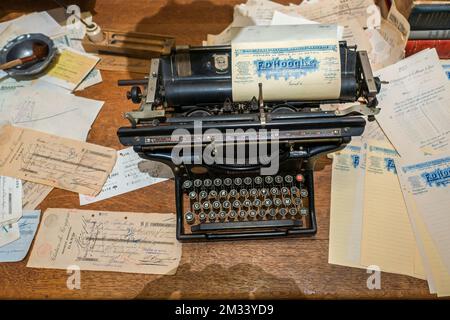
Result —
M232 230L248 228L280 228L280 227L301 227L302 220L262 220L262 221L239 221L239 222L213 222L202 223L191 227L192 232Z

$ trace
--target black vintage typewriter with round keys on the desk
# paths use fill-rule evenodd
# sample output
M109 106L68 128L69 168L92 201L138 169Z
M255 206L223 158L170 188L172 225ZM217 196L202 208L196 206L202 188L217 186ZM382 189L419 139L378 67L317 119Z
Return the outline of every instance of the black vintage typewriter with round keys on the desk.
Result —
M126 113L131 126L118 130L120 142L133 146L142 158L172 168L179 240L315 234L315 160L363 133L365 117L372 120L379 112L380 80L372 75L367 53L341 41L338 99L270 101L264 99L264 86L255 83L257 97L233 101L230 51L230 46L177 47L151 60L146 79L119 81L132 86L127 97L140 104ZM320 104L347 102L355 104L343 111L320 109ZM195 132L199 121L201 131ZM174 138L177 129L186 134ZM252 136L227 135L245 150L258 143L263 129L278 129L278 171L262 174L267 164L249 159L207 164L189 155L187 163L174 161L173 150L180 143L201 151L223 146L224 141L203 134L208 129L254 129Z

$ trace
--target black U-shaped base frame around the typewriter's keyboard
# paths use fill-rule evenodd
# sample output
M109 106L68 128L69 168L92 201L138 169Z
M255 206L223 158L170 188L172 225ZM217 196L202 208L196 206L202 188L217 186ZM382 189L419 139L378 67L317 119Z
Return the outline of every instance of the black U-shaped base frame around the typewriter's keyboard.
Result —
M302 169L305 186L309 192L308 227L303 226L302 219L280 219L228 223L206 223L191 228L186 232L184 220L184 204L182 177L175 177L176 210L177 210L177 239L180 241L213 241L239 239L267 239L278 237L311 236L317 232L314 209L314 180L313 170Z

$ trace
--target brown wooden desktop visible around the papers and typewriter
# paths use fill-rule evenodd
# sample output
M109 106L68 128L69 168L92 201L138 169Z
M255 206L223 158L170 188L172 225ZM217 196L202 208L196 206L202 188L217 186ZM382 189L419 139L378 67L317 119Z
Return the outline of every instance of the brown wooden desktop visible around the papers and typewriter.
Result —
M200 44L207 33L219 33L230 23L232 7L239 2L98 0L94 19L103 27L170 34L179 44ZM6 17L12 18L52 7L52 2L14 1L9 8L0 4L0 12L5 10ZM127 88L116 83L133 75L102 72L102 76L101 84L79 94L105 101L88 141L121 149L116 130L128 124L122 113L135 106L125 99ZM81 290L74 291L66 287L64 270L30 269L25 267L26 262L2 263L0 298L433 297L422 280L383 273L382 289L369 290L365 270L328 264L331 161L324 158L320 164L323 169L315 175L319 231L314 238L188 243L183 245L181 264L174 276L83 271ZM173 189L173 182L164 182L83 209L174 212ZM40 209L49 207L79 208L78 195L55 189Z

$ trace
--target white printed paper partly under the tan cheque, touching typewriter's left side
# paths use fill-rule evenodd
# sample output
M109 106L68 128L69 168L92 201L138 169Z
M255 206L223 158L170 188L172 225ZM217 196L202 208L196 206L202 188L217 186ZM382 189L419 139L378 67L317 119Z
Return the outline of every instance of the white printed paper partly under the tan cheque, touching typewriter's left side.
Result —
M167 179L154 178L148 173L141 172L138 164L142 158L133 151L133 147L117 151L117 161L111 174L106 180L102 191L95 197L80 194L80 205L86 205L100 200L108 199L119 194L137 190ZM162 164L155 163L155 166ZM155 167L155 170L158 169Z

